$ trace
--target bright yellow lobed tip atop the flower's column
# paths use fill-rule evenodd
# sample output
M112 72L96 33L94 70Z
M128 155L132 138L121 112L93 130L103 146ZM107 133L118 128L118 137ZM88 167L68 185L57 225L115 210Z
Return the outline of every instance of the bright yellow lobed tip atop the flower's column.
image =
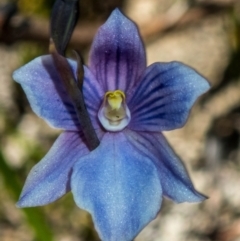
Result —
M105 94L106 99L112 110L118 110L125 99L125 94L121 90L108 91Z

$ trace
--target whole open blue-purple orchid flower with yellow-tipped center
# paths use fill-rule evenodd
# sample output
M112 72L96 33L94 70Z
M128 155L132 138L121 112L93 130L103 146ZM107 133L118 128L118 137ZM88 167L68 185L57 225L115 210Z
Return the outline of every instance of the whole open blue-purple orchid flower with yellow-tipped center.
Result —
M76 62L68 61L76 73ZM156 217L162 196L205 199L161 132L182 127L209 84L179 62L146 68L138 29L118 9L100 27L84 70L83 95L101 141L91 152L52 57L13 74L33 111L64 130L31 170L17 205L45 205L72 191L102 240L130 241Z

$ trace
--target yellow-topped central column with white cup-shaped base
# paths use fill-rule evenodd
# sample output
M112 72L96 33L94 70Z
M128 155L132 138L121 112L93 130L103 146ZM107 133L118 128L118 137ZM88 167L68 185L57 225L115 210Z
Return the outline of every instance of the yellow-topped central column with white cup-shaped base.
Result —
M108 131L121 131L131 120L125 94L121 90L108 91L98 112L98 118Z

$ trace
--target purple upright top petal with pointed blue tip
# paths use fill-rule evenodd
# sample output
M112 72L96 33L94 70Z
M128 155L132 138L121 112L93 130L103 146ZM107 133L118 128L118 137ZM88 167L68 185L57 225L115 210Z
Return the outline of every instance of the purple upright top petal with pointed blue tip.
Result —
M131 91L146 68L145 51L136 25L114 10L95 36L90 70L104 91Z

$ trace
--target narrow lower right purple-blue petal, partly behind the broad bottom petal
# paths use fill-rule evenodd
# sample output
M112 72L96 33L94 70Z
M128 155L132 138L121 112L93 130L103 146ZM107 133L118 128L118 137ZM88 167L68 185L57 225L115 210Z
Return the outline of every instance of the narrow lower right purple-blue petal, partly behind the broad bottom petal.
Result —
M156 165L164 196L177 203L200 202L205 199L195 190L182 161L162 134L131 130L126 132L130 143Z

